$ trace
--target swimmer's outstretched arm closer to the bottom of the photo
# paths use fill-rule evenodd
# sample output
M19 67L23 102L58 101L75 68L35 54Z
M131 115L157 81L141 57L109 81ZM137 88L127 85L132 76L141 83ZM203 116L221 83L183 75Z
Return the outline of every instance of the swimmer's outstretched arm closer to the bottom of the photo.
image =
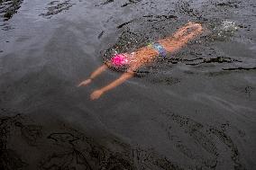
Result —
M116 80L111 82L110 84L105 85L101 89L95 90L90 95L91 100L98 99L102 94L105 94L105 92L113 89L114 87L116 87L118 85L123 84L123 82L125 82L127 79L132 78L134 76L134 74L135 74L134 71L137 70L140 66L142 66L142 65L138 65L137 64L136 66L133 66L133 67L129 68L126 73L123 73L122 76L120 76L119 78L117 78Z

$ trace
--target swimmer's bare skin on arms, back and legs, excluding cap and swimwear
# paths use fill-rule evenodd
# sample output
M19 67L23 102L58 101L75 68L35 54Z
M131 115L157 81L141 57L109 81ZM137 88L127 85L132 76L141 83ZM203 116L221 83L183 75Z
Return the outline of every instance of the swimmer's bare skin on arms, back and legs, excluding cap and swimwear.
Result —
M197 35L201 34L203 31L202 25L199 23L194 22L188 22L185 26L181 27L176 31L171 37L161 39L158 42L158 46L160 46L160 49L165 50L167 53L174 53L184 47L189 40L193 40L197 37ZM154 58L156 58L158 55L160 55L161 50L154 49L150 46L143 47L141 49L137 49L135 52L133 52L133 59L131 62L129 62L129 67L125 73L123 73L122 76L114 80L112 83L105 85L104 87L95 90L91 95L91 100L98 99L102 94L105 94L105 92L113 89L114 87L123 84L123 82L131 77L134 76L134 72L148 64L151 63ZM126 54L126 55L132 55ZM101 67L98 67L90 76L87 78L87 80L82 81L78 86L88 85L90 84L96 76L99 76L102 72L105 71L106 68L113 65L110 61L106 62Z

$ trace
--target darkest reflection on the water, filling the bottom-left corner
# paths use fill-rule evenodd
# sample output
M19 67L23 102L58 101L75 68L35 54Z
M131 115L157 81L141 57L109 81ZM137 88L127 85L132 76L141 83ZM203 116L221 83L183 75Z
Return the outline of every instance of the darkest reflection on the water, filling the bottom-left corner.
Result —
M49 123L31 124L19 113L1 117L0 121L2 169L181 169L166 157L133 148L119 139L105 139L109 144L104 145L67 123L49 130ZM30 156L19 157L24 148Z

